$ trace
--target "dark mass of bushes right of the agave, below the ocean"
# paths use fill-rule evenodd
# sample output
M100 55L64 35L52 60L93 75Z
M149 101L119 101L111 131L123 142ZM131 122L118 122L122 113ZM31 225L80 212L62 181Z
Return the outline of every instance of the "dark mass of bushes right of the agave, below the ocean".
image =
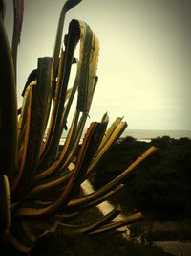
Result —
M119 175L151 145L155 152L141 163L124 184L126 194L117 197L123 204L143 212L152 212L159 219L190 217L191 209L191 140L173 139L168 136L153 139L150 143L126 137L107 153L92 182L96 188Z

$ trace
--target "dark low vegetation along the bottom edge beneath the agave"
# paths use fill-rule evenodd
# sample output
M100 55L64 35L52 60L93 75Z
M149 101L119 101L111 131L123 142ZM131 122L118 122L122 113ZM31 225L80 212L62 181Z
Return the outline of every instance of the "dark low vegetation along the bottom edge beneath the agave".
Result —
M31 256L171 256L150 245L127 242L120 233L86 237L58 229L55 234L39 240Z

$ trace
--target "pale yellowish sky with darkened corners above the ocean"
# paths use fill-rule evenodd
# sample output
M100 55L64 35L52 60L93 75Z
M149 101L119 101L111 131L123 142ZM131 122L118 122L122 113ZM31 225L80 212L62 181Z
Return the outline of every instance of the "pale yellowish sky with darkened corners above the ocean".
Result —
M37 58L52 56L63 0L25 0L18 95ZM11 0L6 24L11 32ZM191 1L83 0L68 12L100 41L99 81L90 112L124 116L132 129L191 129Z

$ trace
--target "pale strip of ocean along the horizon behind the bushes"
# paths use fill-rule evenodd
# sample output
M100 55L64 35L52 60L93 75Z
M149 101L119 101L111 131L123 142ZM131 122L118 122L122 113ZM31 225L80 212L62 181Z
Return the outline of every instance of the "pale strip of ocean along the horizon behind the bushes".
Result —
M64 144L66 131L63 133L60 144ZM174 139L189 138L191 139L191 130L160 130L160 129L126 129L120 138L127 136L134 137L138 141L150 142L151 139L163 136L169 136Z

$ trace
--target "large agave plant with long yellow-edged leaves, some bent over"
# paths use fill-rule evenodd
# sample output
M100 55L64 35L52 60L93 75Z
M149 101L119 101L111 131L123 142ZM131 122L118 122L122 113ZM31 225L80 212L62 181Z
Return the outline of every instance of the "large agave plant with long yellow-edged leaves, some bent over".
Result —
M124 178L156 151L150 148L110 183L90 195L76 198L82 182L127 127L122 118L117 118L107 128L109 118L104 114L82 136L96 89L99 43L90 27L78 20L71 21L64 45L61 43L66 12L79 2L68 0L63 6L53 57L38 58L18 111L16 59L24 1L13 1L11 49L4 26L5 4L0 1L0 234L1 239L22 252L29 252L38 237L53 231L58 224L93 235L142 218L137 213L114 222L120 212L115 208L91 223L71 222L85 209L113 196L123 186ZM78 59L74 57L77 44ZM73 65L76 75L73 86L68 88ZM75 94L73 120L65 143L60 146Z

